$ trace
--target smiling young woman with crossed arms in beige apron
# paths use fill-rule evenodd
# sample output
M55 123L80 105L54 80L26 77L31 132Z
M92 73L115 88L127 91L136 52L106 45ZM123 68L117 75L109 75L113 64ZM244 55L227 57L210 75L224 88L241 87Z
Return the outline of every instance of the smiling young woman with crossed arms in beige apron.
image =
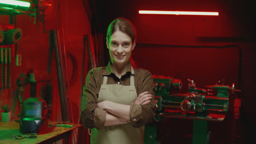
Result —
M86 76L81 108L91 144L144 143L144 125L154 117L156 104L152 75L133 65L135 42L136 29L129 20L112 21L106 41L110 61Z

